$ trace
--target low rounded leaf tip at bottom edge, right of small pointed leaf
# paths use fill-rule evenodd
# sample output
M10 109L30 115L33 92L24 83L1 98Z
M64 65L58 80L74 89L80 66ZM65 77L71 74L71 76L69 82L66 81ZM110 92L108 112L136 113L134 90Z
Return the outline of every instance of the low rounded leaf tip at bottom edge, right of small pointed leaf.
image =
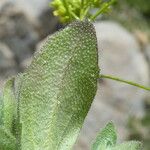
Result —
M111 150L142 150L142 144L137 141L129 141L123 144L117 145Z

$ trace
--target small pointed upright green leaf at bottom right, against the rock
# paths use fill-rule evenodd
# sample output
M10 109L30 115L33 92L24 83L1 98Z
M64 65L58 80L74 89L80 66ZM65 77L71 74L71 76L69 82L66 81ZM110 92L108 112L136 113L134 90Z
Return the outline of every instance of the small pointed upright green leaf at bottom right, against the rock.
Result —
M116 144L117 135L113 123L108 123L98 134L92 145L92 150L106 150ZM120 149L121 150L121 149Z

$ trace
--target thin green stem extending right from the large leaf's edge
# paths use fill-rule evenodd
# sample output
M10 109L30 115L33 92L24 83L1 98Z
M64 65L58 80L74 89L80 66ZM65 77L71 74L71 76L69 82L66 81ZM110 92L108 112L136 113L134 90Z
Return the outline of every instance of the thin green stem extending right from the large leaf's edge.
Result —
M123 83L126 83L126 84L130 84L130 85L136 86L138 88L150 91L150 87L145 87L145 86L140 85L138 83L135 83L135 82L132 82L132 81L128 81L128 80L124 80L124 79L121 79L121 78L118 78L118 77L114 77L114 76L111 76L111 75L103 75L103 74L101 74L100 78L106 78L106 79L111 79L111 80L123 82Z

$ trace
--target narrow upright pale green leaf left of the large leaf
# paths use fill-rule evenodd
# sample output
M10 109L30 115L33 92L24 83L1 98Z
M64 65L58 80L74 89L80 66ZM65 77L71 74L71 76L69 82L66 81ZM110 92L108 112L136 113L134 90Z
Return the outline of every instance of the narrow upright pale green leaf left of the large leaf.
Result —
M17 115L17 101L14 93L14 80L15 78L8 80L3 90L2 120L5 128L9 129L10 131L12 131L13 121Z

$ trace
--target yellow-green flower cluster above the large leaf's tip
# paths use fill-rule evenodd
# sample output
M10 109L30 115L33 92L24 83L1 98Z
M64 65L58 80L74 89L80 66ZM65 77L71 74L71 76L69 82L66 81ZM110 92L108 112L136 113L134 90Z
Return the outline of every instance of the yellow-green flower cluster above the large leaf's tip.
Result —
M68 23L73 20L95 20L100 14L108 12L113 2L114 0L53 0L50 6L61 22Z

